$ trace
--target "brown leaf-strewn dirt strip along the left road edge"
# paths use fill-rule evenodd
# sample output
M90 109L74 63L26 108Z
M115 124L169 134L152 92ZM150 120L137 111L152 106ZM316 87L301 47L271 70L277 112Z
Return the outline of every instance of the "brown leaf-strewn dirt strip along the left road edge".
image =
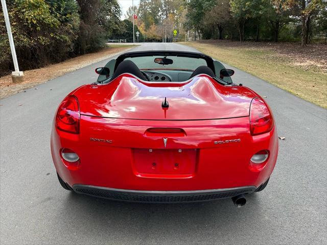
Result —
M34 87L37 84L44 83L56 77L62 76L68 72L72 72L87 65L108 59L122 51L129 50L134 45L112 45L103 50L75 57L57 64L52 64L38 69L24 71L24 82L13 83L11 75L0 78L0 99L8 97L12 94L24 91L25 89Z

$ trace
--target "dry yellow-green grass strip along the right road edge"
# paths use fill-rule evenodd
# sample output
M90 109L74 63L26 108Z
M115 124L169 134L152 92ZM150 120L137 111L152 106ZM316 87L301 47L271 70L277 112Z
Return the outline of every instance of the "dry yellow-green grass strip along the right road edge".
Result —
M265 47L220 46L215 43L188 42L214 59L237 67L304 100L327 108L327 74L323 69L297 65L290 55Z

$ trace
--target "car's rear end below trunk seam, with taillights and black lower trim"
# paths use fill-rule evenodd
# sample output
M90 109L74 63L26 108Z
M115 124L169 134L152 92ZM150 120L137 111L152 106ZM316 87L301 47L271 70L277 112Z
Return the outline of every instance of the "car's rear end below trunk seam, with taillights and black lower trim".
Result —
M58 175L78 193L138 202L232 198L265 183L276 162L276 129L259 97L248 115L196 120L76 116L78 97L67 98L75 106L59 107L51 149Z

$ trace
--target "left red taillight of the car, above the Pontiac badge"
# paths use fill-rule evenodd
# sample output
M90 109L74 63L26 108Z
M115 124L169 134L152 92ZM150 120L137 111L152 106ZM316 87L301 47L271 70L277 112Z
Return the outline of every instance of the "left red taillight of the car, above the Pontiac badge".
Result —
M59 130L78 134L80 132L80 109L77 98L66 97L60 104L56 115L56 125Z

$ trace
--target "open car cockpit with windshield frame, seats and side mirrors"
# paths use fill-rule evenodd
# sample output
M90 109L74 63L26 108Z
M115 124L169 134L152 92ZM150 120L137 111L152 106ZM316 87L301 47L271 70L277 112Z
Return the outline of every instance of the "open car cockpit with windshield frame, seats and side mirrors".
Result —
M133 53L135 57L122 55L126 57L120 56L110 60L105 67L97 68L96 72L99 74L97 82L108 83L124 73L129 73L149 82L184 82L197 75L206 74L223 84L232 83L230 76L233 72L227 72L228 69L225 69L222 63L208 56L200 56L197 53L190 57L184 53L181 53L182 56L171 53L145 56L136 54L137 52Z

